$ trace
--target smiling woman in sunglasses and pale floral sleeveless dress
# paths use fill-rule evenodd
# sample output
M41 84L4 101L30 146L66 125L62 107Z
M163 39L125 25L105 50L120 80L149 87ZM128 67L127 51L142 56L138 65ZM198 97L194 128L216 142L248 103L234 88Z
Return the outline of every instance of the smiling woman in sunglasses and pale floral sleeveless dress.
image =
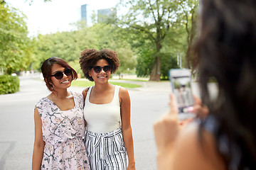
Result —
M57 57L43 62L41 71L51 93L36 103L32 169L89 170L82 140L84 99L67 90L78 75Z

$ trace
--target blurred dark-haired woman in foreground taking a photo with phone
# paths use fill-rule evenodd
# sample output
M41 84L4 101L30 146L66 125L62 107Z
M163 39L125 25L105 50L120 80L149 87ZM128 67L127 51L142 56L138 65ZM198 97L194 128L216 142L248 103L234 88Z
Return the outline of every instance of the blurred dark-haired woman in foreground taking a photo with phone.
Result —
M176 98L154 125L160 169L256 168L256 1L202 0L196 42L202 103L208 116L179 128ZM210 98L208 80L218 84Z

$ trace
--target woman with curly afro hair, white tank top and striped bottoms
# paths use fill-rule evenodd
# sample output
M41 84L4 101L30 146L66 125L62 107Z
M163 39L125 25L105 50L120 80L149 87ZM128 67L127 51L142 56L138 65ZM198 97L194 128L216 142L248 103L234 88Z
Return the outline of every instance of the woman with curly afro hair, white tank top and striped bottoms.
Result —
M87 122L85 146L91 169L135 169L129 94L108 81L119 67L117 53L83 50L80 67L87 79L95 81L95 86L82 91Z

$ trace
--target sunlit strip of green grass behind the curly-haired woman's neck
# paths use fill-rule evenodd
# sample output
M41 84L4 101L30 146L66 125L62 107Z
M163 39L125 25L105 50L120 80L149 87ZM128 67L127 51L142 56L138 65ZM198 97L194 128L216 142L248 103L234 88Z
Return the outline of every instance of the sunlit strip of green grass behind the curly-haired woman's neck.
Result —
M119 82L110 82L110 84L122 86L124 88L130 88L130 89L140 87L137 84L127 84L127 83L119 83ZM84 87L87 87L87 86L94 86L94 85L95 85L95 83L92 82L92 81L84 81L84 80L72 81L72 86L84 86Z

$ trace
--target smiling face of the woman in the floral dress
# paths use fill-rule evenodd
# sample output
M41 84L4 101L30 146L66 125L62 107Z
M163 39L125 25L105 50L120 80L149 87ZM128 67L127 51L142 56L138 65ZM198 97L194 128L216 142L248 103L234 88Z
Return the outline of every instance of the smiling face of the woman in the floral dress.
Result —
M64 70L65 67L62 67L59 64L53 64L51 75L55 74L56 72L64 72ZM62 79L51 77L51 81L53 82L53 89L67 89L71 86L72 76L67 76L63 73Z

